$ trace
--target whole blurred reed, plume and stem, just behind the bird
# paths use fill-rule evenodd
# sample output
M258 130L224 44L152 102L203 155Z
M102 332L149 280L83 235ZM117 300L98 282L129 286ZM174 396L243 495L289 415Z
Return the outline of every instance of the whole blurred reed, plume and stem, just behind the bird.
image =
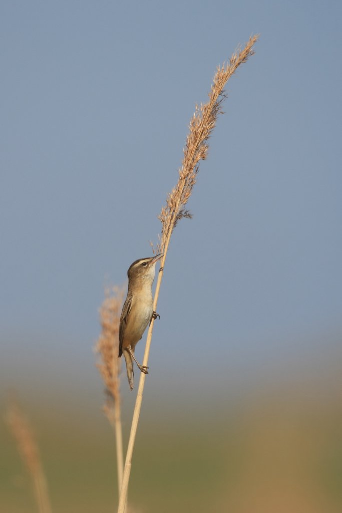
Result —
M124 468L120 359L118 358L119 324L123 299L124 287L105 289L105 300L99 309L102 330L95 346L95 351L100 355L100 363L96 366L105 383L106 402L103 409L115 432L118 492L120 492Z

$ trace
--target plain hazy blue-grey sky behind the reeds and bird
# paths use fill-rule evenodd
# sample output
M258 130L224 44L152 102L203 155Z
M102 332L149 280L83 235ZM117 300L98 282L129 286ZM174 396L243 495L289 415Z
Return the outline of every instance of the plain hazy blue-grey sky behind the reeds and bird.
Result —
M2 3L5 384L25 367L37 385L77 369L93 386L103 286L151 254L194 105L253 33L256 54L229 81L200 166L194 218L172 236L151 366L158 386L176 374L195 390L205 369L225 387L339 339L341 10Z

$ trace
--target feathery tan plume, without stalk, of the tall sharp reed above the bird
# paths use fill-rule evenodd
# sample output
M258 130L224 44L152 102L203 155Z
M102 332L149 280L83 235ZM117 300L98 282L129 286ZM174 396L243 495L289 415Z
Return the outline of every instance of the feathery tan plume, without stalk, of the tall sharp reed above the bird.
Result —
M179 169L177 185L168 194L166 205L158 215L162 222L162 235L159 237L157 252L165 252L171 233L177 222L182 218L191 218L192 214L186 209L192 188L196 183L199 162L206 160L208 140L215 127L218 114L222 113L222 102L225 100L224 87L229 78L235 73L240 64L254 54L253 46L258 35L251 36L243 50L236 50L226 65L218 66L213 84L209 92L209 101L200 106L196 105L195 113L189 125L182 166Z

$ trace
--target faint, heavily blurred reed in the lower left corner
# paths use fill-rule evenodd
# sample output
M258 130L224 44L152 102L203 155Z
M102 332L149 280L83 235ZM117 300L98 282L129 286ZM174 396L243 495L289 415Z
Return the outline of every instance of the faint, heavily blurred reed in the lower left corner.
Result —
M18 452L32 478L39 513L51 513L47 481L33 431L27 417L13 399L8 406L5 420L17 443Z

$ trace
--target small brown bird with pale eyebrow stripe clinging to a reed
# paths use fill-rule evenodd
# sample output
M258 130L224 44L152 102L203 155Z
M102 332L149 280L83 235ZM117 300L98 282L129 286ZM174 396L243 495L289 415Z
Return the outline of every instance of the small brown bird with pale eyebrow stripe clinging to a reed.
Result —
M121 312L119 326L119 358L124 353L131 390L134 385L133 360L142 372L148 374L148 367L140 365L135 359L134 349L152 317L156 319L158 315L153 311L152 284L155 264L163 255L164 253L159 253L155 257L136 260L127 271L127 298Z

